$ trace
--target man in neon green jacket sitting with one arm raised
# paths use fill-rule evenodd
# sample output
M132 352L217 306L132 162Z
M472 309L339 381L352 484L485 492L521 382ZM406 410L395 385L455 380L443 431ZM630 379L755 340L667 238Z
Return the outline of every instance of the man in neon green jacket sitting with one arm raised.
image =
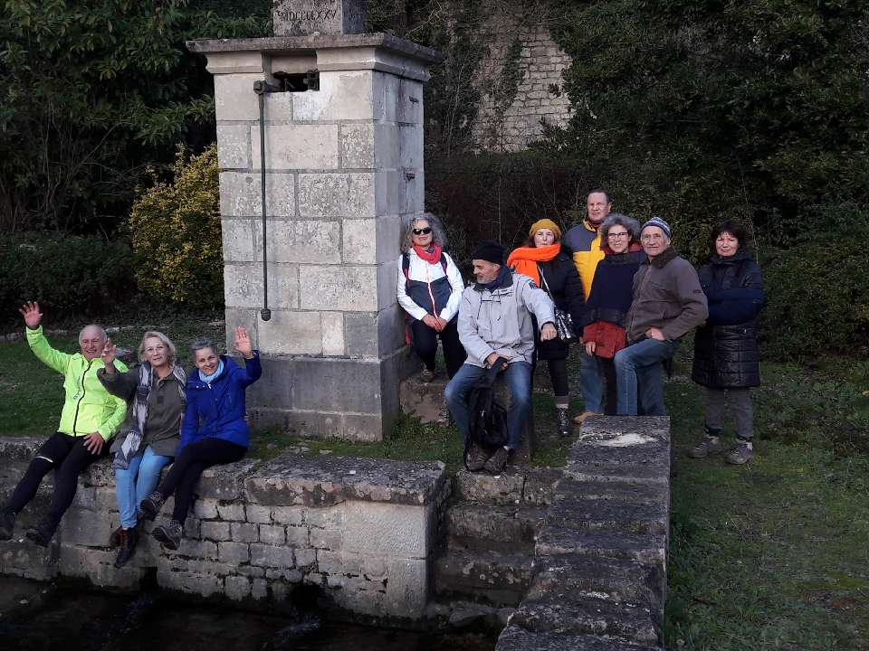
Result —
M12 497L0 511L0 540L12 537L15 516L36 495L43 477L54 470L54 493L48 512L27 532L36 544L47 546L66 509L72 504L79 474L109 451L105 445L127 412L127 403L105 390L97 378L103 368L100 354L106 333L99 325L85 325L79 333L80 353L54 350L43 335L43 313L38 303L28 302L19 310L27 325L27 343L33 354L63 375L63 410L57 432L36 452ZM121 373L126 366L115 362Z

